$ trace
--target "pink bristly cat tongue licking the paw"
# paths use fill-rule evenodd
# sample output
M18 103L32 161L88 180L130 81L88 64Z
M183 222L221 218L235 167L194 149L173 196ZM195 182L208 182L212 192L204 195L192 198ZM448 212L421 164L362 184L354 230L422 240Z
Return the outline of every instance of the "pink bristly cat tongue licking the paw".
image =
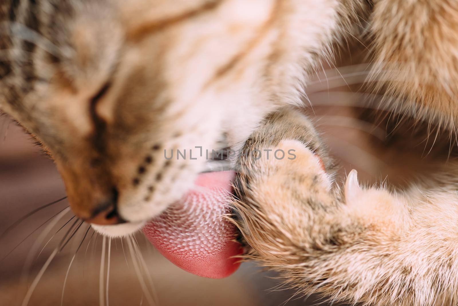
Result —
M157 218L143 233L169 261L190 273L221 279L234 273L240 263L240 244L232 241L235 226L221 215L232 191L233 171L199 175L196 188Z

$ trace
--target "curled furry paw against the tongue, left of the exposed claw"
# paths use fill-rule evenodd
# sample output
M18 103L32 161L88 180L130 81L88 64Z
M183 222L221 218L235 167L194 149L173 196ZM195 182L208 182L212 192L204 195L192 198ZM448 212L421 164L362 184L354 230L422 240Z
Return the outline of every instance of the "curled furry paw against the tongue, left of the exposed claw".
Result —
M282 262L287 254L295 256L298 246L313 245L306 233L314 230L314 224L332 224L329 213L338 210L339 201L332 176L306 144L282 140L266 149L261 152L270 152L269 156L242 160L231 204L244 240L255 250L249 254L265 262ZM284 158L281 152L286 153Z

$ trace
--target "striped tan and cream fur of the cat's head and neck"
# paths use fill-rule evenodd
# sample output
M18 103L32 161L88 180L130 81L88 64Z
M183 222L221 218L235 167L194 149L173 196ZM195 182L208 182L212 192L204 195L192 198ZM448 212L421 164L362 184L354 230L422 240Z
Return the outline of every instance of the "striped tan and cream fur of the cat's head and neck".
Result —
M2 34L14 69L0 107L53 156L76 215L116 198L132 226L113 235L139 229L206 169L203 157L166 163L164 150L236 146L268 113L301 104L308 71L364 11L338 0L52 1L9 4L16 22L41 17L43 38L31 65L13 52L24 38ZM11 17L8 5L0 13Z

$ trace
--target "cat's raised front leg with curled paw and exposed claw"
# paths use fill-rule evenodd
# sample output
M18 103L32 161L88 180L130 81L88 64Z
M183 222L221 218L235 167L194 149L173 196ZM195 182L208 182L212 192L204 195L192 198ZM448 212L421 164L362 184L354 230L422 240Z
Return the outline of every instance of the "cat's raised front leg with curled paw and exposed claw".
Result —
M303 295L367 305L455 305L457 180L392 193L361 188L353 170L343 189L317 137L307 117L287 109L245 143L248 151L294 149L297 155L240 158L232 205L246 258L278 271ZM458 164L445 171L458 173Z

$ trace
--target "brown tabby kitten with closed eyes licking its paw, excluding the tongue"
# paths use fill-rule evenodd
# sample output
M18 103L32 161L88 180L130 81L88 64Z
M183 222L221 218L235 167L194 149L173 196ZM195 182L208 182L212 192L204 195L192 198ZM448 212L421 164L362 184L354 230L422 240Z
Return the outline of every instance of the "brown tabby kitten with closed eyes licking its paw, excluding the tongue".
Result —
M73 212L111 236L208 183L205 155L166 149L294 148L291 164L240 160L234 205L252 254L336 299L454 301L453 180L402 197L360 190L352 174L344 199L308 120L280 109L363 34L370 81L386 81L375 89L453 131L457 12L450 0L3 1L0 108L54 158ZM453 164L443 171L454 178Z

